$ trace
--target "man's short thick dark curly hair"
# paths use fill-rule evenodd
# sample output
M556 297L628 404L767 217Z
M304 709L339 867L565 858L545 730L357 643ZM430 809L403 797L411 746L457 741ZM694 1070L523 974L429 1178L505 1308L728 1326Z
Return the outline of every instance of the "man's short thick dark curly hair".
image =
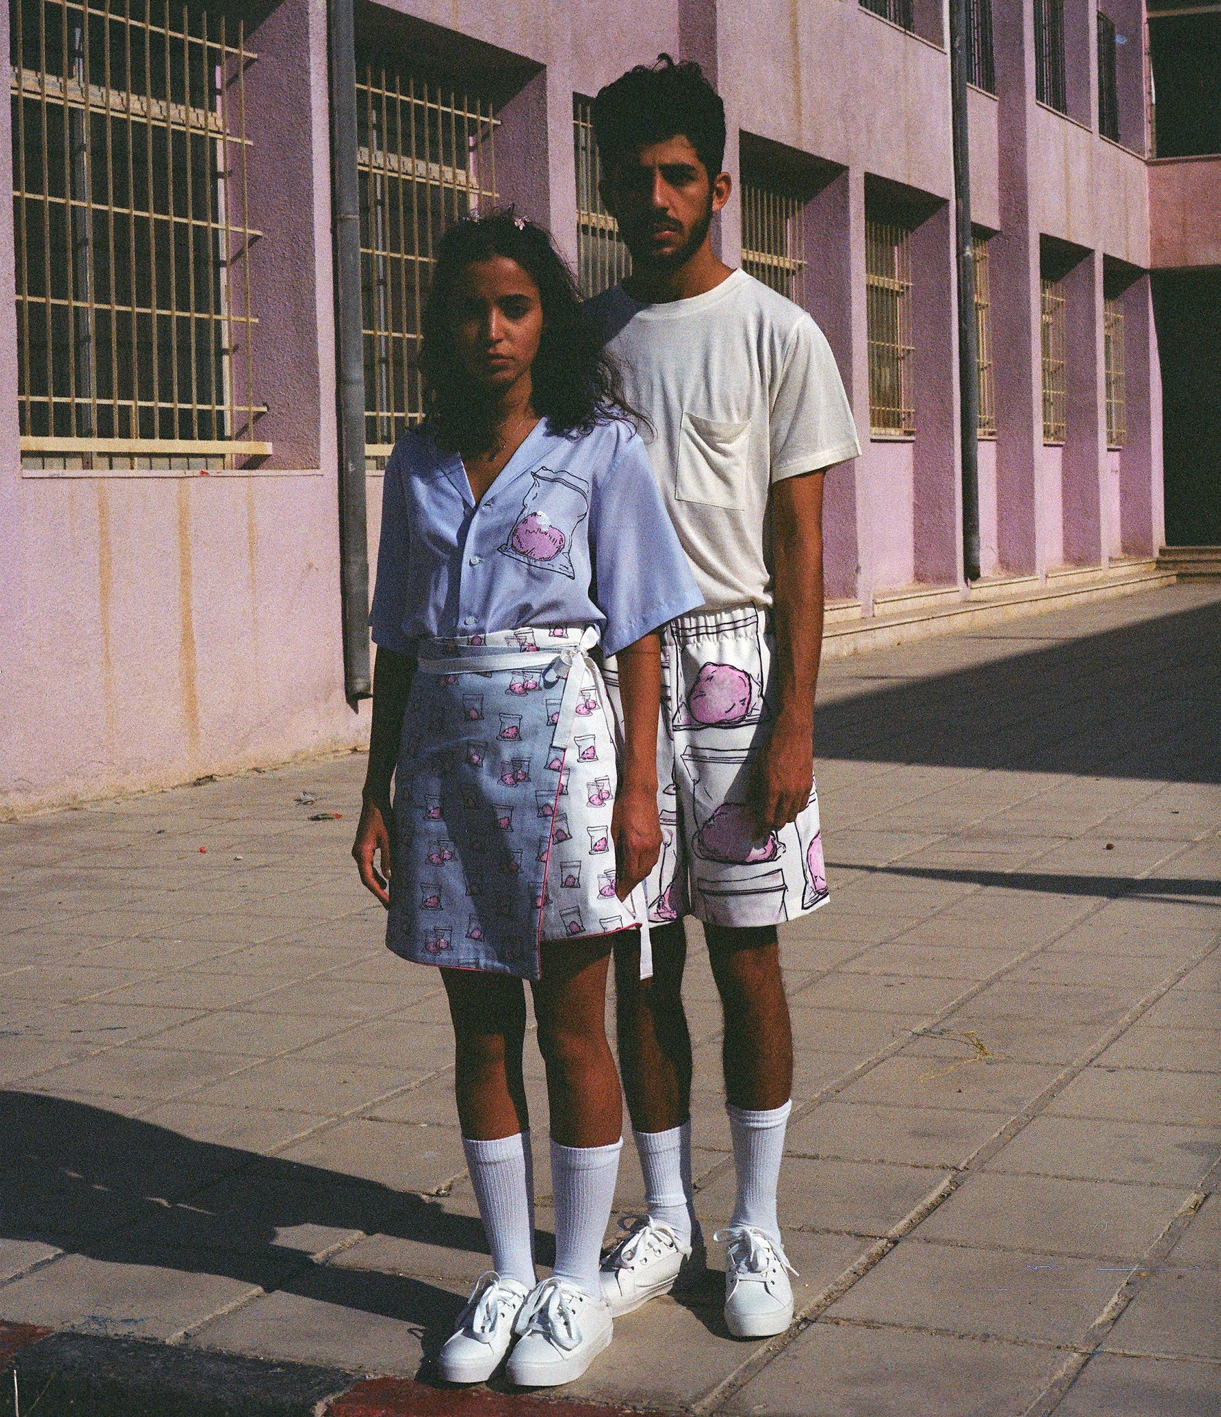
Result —
M725 105L694 60L659 54L608 84L594 99L594 136L609 176L649 143L686 137L712 179L725 160Z

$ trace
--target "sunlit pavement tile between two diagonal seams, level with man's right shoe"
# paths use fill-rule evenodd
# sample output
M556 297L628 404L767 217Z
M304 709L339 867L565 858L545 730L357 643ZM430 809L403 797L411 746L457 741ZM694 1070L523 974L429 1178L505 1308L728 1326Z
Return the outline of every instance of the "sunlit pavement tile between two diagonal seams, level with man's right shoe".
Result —
M1089 1328L1122 1280L1113 1264L926 1244L916 1231L827 1314L1060 1343Z

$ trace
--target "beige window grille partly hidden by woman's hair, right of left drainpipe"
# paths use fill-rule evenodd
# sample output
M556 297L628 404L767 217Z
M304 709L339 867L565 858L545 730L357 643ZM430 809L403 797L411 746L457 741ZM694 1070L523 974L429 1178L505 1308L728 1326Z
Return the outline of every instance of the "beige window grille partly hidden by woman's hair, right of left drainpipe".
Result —
M455 84L357 67L365 455L424 417L415 356L436 242L496 203L492 103Z

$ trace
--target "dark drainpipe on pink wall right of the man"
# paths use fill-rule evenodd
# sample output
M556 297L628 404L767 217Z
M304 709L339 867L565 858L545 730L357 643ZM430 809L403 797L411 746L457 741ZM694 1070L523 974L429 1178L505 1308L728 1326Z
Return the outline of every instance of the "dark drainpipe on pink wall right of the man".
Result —
M962 561L979 580L979 340L970 235L970 154L966 112L967 0L949 0L949 92L953 118L953 218L958 254L958 378L962 441Z

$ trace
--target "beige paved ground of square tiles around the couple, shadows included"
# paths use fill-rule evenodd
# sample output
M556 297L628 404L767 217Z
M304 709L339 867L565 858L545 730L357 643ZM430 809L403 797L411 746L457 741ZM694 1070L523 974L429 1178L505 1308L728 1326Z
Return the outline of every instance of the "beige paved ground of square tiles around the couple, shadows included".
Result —
M564 1396L1215 1417L1221 591L863 655L820 701L831 901L783 931L800 1322L734 1342L710 1284ZM0 1319L401 1377L446 1332L487 1253L439 981L385 952L347 857L363 772L0 826ZM711 1233L701 948L687 998Z

